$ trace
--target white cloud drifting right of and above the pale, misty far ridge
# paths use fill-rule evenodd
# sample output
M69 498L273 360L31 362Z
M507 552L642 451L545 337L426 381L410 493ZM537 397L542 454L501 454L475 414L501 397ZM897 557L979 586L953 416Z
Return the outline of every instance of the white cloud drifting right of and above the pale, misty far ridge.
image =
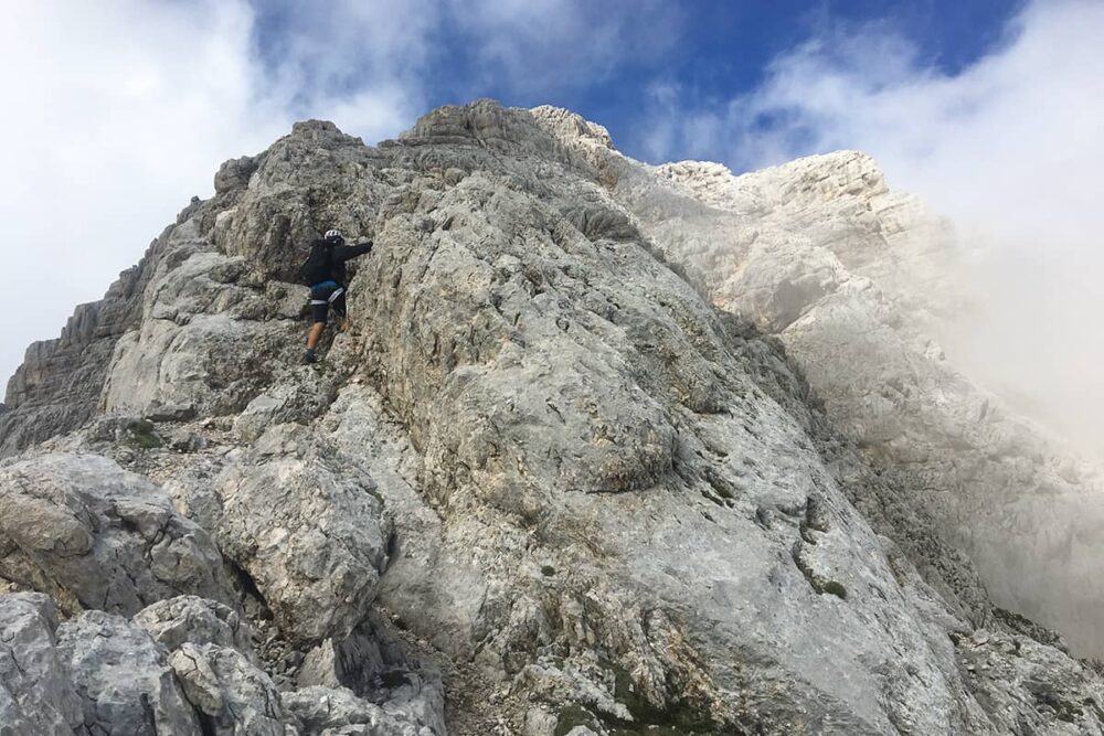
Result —
M684 105L659 85L649 157L733 168L857 148L962 225L985 317L957 352L1104 455L1104 3L1038 0L957 74L888 26L822 28L753 93ZM984 247L981 247L984 246Z

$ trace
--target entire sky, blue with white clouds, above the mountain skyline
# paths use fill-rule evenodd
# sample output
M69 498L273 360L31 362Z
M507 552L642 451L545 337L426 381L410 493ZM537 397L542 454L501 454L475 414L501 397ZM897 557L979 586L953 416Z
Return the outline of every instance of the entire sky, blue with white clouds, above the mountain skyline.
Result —
M1104 416L1104 0L39 0L0 21L0 375L223 160L296 119L372 143L489 96L656 163L872 154L986 264L1006 319L973 342L1020 370L998 380Z

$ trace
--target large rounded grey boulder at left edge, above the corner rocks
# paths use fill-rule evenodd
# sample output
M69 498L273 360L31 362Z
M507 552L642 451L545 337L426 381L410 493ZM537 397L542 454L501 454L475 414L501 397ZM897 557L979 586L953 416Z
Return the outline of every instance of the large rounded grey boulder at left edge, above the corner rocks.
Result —
M0 576L70 614L131 616L180 591L236 599L208 533L145 478L92 455L0 468Z

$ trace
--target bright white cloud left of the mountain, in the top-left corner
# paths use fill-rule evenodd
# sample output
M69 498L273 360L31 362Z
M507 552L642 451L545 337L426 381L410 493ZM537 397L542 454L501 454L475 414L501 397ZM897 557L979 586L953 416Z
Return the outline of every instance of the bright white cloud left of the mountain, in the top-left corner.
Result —
M233 2L6 7L0 372L208 191L212 162L284 127L254 95L251 28Z

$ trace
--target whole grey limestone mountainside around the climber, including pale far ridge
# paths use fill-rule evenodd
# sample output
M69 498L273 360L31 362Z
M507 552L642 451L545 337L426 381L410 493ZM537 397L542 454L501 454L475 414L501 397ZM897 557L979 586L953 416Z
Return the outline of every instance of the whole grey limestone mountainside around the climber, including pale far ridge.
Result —
M654 169L480 100L374 148L297 124L215 192L144 264L102 416L0 466L33 522L0 520L7 585L132 617L0 596L43 652L61 631L49 727L77 697L145 733L125 693L159 733L1102 733L1100 675L979 554L1055 544L981 481L1049 456L995 404L985 442L940 434L978 416L925 332L947 225L868 158ZM290 279L331 226L375 248L298 366ZM1048 620L1097 615L1083 531Z

